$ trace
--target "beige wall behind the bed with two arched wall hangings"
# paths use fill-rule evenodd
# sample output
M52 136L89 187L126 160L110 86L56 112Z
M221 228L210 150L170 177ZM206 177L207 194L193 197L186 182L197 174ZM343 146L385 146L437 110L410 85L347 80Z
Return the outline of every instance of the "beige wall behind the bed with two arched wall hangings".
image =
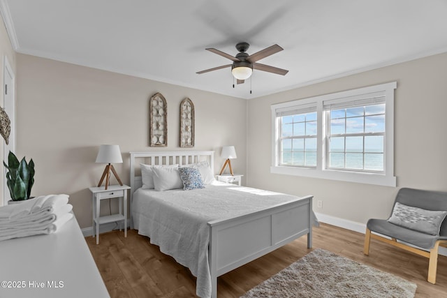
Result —
M149 98L156 92L168 104L165 148L148 147ZM94 163L99 145L119 144L124 163L115 168L129 184L129 151L179 150L185 97L196 112L196 146L190 150L216 151L218 171L221 147L234 144L232 165L246 174L247 100L17 54L17 155L36 163L32 195L70 195L81 228L91 226L88 188L98 184L105 166ZM107 203L101 212L108 214Z

